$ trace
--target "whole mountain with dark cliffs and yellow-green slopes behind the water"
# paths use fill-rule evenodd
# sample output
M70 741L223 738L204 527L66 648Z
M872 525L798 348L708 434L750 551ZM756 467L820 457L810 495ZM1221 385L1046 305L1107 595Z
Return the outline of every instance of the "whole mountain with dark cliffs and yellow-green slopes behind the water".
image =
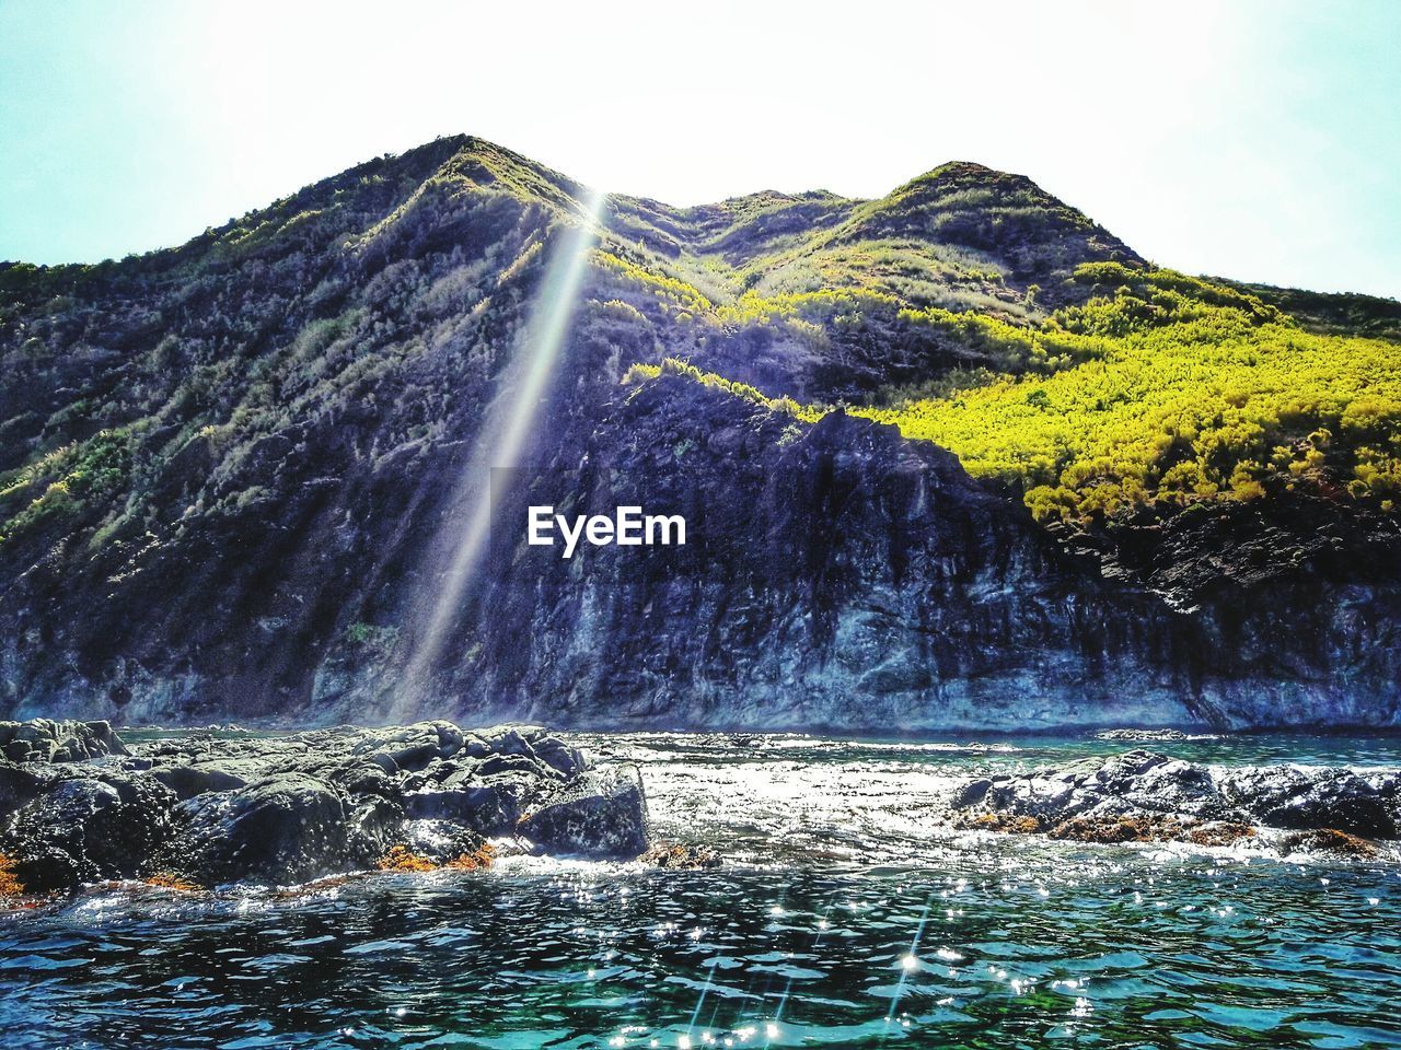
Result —
M975 164L675 209L443 139L0 267L0 708L1394 725L1397 332Z

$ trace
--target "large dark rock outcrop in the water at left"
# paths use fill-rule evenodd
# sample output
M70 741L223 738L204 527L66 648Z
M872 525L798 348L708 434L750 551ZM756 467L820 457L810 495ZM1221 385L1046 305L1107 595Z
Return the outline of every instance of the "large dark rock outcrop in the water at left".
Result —
M590 857L647 848L636 770L595 770L537 727L112 743L90 762L0 762L0 854L28 890L151 876L289 885L403 847L447 862L485 836Z

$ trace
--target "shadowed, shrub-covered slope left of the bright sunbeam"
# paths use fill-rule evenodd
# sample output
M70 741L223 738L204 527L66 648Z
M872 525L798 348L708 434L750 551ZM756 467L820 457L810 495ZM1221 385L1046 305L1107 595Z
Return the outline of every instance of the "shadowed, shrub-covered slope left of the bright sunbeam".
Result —
M297 463L402 466L441 440L521 325L556 213L518 197L546 183L443 140L182 248L0 265L0 554L146 556L266 518Z

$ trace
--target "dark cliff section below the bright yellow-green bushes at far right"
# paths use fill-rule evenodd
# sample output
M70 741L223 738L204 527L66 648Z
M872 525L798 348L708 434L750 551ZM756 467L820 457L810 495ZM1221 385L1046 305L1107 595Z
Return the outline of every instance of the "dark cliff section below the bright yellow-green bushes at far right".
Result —
M1142 508L1070 539L1180 613L1217 727L1401 725L1401 528L1328 496Z

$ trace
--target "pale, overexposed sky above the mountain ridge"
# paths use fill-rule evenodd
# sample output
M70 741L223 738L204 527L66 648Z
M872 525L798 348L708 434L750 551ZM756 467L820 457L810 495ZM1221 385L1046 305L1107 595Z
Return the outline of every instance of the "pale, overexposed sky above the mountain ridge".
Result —
M1391 0L0 0L0 259L469 133L674 204L972 160L1163 266L1401 297L1398 53Z

